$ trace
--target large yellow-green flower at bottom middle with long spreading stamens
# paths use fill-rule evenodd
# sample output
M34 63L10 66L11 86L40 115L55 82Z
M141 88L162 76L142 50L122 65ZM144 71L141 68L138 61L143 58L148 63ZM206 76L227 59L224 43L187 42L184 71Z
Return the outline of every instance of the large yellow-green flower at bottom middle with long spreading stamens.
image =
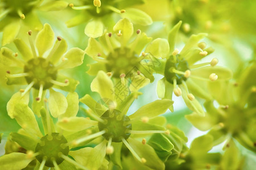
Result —
M83 132L85 133L84 137L74 139L71 144L74 147L82 146L86 142L100 137L102 142L97 146L101 147L98 155L105 156L109 154L112 162L119 167L122 166L121 156L117 155L121 154L121 148L124 144L138 162L152 169L164 169L163 162L158 158L154 149L146 144L146 139L139 142L135 140L134 137L138 134L170 133L166 128L155 122L158 122L156 121L159 119L157 116L166 112L173 101L168 99L156 100L150 104L144 105L130 116L127 116L126 113L134 99L139 95L139 92L133 92L123 102L118 103L118 101L114 99L113 82L103 71L98 72L92 82L91 88L92 91L98 92L101 98L104 99L104 102L109 104L109 106L106 107L101 103L97 103L89 95L82 97L80 101L89 107L86 113L94 120L83 117L71 117L63 118L62 121L57 123L63 130L77 131L77 127L73 125L81 125L79 128L87 131L87 133ZM92 148L86 147L72 151L71 156L78 163L89 169L98 169L99 165L102 163L100 162L102 158L92 160L96 158L97 155L90 155L91 158L88 158L86 162L79 156L88 154L90 150L92 150Z

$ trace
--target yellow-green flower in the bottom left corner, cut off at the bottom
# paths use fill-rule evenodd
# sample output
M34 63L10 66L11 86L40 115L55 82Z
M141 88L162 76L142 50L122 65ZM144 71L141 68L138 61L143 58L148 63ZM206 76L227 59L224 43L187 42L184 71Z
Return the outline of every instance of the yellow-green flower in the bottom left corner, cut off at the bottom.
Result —
M75 117L79 109L79 97L76 93L67 96L68 112L62 116ZM35 169L54 167L55 169L87 169L75 160L69 158L69 136L59 130L44 107L40 109L43 129L39 129L34 113L26 103L17 102L14 106L13 116L22 127L18 133L11 133L11 141L18 143L23 152L11 152L0 157L1 168L23 169L36 160ZM61 118L61 116L59 116ZM42 131L44 133L42 133Z

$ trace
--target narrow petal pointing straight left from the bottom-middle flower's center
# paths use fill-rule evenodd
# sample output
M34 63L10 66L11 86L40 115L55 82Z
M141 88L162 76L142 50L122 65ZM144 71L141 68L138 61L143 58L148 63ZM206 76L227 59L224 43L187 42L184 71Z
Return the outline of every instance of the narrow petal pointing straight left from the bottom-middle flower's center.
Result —
M85 117L65 117L57 122L57 126L66 131L80 131L97 124L97 121L89 120Z

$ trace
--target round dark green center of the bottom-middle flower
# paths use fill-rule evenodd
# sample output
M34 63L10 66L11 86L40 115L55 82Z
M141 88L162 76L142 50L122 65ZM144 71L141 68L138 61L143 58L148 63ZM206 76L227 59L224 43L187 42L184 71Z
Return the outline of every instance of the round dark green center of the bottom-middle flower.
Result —
M108 110L102 114L101 118L106 120L106 124L98 122L98 129L100 131L106 130L103 134L106 140L112 138L113 142L122 142L122 137L128 139L130 137L129 130L131 130L130 118L116 109Z

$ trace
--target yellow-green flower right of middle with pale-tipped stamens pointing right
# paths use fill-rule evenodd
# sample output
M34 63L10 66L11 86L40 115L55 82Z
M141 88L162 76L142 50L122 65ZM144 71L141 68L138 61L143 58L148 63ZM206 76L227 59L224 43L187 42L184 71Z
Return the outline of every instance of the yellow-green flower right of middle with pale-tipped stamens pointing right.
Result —
M176 96L183 97L189 109L203 116L204 110L194 95L207 100L212 99L212 96L197 85L196 80L204 82L214 82L217 79L227 80L232 78L232 72L224 67L216 66L217 58L213 58L210 62L195 64L213 52L212 48L205 48L205 42L198 43L207 36L205 33L192 35L180 52L174 49L180 25L181 22L177 23L170 31L168 41L156 39L147 46L145 52L152 54L156 59L159 58L158 61L161 63L159 67L153 68L156 73L164 75L164 78L158 82L158 96L161 99L171 99L172 92L174 92ZM173 108L170 109L173 111Z

